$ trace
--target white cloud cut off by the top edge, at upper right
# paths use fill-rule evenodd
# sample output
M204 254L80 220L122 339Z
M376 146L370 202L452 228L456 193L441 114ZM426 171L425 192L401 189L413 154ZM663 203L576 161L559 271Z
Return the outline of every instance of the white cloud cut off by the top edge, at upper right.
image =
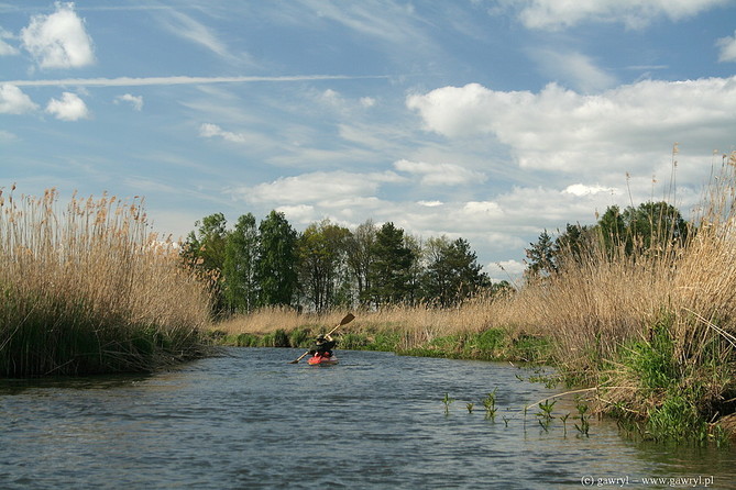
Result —
M679 21L728 0L506 0L518 8L519 20L528 29L560 30L583 22L620 22L629 29L641 29L666 16Z

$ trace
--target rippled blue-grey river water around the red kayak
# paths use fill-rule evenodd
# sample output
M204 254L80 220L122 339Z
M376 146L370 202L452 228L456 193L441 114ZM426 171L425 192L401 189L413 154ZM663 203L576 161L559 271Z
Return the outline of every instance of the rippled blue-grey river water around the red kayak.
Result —
M300 354L0 381L0 488L736 488L736 450L635 442L611 421L582 436L573 400L546 431L524 407L561 390L508 363L341 350L337 366L288 364ZM495 422L481 403L494 389Z

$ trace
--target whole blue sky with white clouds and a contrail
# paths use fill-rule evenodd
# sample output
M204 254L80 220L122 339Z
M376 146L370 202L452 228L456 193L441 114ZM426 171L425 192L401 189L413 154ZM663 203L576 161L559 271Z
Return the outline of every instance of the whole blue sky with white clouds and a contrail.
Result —
M736 0L0 0L0 188L463 237L667 200L736 145Z

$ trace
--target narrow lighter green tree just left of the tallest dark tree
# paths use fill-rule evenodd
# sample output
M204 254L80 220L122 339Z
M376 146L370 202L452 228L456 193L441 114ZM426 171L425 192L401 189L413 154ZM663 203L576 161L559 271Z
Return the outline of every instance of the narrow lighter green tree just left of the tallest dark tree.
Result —
M243 214L238 219L234 230L228 233L224 246L224 298L231 311L249 313L257 304L257 246L255 216Z

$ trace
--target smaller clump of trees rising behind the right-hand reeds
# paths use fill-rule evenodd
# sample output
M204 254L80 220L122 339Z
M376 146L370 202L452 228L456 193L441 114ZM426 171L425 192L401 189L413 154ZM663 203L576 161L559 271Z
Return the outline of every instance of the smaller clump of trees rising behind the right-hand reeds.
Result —
M608 207L593 225L570 224L552 240L545 230L536 243L526 248L527 277L545 277L560 271L567 263L589 260L591 254L641 257L664 254L674 245L685 245L694 231L673 205L645 202L627 207Z

